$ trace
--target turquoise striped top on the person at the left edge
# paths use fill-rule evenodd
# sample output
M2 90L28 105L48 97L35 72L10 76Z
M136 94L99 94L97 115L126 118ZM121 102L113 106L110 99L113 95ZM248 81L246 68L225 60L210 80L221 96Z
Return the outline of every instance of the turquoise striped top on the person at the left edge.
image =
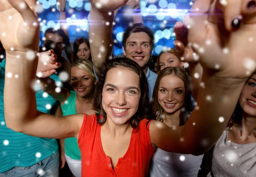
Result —
M58 151L55 139L32 137L14 132L6 127L3 109L5 65L6 60L0 62L0 173L15 166L32 166ZM55 81L60 81L56 75L50 77ZM56 101L49 95L46 97L44 94L43 96L43 93L42 90L36 89L37 109L49 114L50 107Z

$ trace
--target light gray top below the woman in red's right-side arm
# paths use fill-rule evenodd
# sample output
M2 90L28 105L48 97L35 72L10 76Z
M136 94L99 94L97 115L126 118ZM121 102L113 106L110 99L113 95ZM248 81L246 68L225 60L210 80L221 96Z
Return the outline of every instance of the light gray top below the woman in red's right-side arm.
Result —
M148 169L149 177L197 177L203 156L166 152L157 148Z

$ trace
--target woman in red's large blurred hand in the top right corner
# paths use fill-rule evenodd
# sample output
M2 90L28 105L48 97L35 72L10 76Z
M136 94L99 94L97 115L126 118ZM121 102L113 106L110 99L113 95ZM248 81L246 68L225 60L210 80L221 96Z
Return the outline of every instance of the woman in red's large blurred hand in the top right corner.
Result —
M204 71L246 79L256 68L256 9L248 0L195 0L184 24Z

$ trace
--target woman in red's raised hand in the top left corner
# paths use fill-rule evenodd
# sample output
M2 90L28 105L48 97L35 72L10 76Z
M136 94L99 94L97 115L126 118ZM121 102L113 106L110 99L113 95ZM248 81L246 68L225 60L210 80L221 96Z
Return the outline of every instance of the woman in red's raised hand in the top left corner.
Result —
M36 15L29 8L35 3L35 0L1 2L0 41L6 50L6 56L24 55L29 59L35 58L33 52L38 51L39 24Z

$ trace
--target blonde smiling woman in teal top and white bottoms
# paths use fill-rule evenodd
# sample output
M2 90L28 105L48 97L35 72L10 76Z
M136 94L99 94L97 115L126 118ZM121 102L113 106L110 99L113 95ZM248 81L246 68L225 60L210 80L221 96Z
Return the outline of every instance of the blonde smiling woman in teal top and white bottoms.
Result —
M93 73L93 63L85 59L77 59L70 69L71 86L74 91L60 89L51 78L40 78L38 84L42 90L61 102L63 116L86 113L94 114L92 108L93 92L97 84ZM47 85L47 87L45 87ZM63 140L61 140L63 141ZM75 177L81 177L81 153L76 138L64 140L67 164Z

